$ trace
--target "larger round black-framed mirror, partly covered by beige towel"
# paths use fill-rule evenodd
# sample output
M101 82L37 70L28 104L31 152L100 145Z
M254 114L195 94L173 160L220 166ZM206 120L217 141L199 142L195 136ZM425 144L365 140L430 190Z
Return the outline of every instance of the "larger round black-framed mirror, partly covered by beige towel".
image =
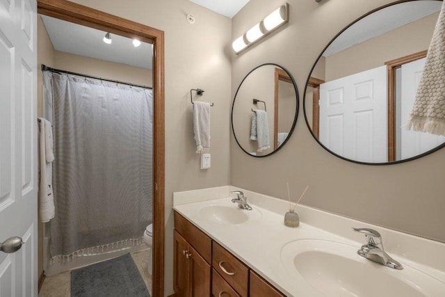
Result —
M326 150L348 161L387 164L444 146L443 136L405 127L441 7L435 0L391 4L327 45L304 100L307 125Z

